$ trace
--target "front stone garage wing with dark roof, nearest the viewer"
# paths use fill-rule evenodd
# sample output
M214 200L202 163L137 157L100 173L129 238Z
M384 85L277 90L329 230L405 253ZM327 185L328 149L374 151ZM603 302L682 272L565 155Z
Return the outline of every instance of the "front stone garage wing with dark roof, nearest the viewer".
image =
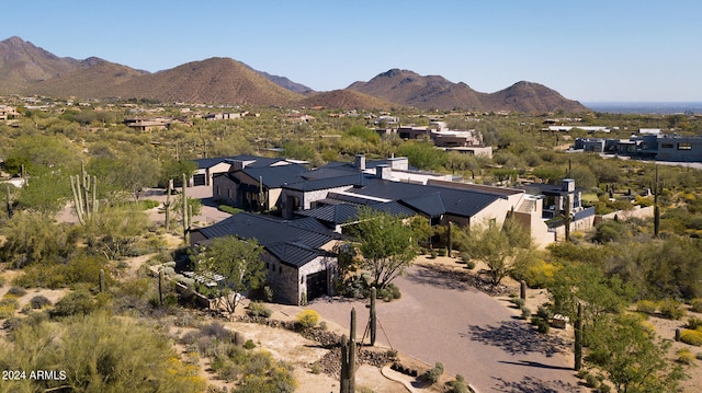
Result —
M191 232L191 245L234 235L256 239L263 246L265 284L273 300L304 304L315 298L333 294L337 257L331 253L339 236L313 218L280 220L241 212L211 227Z

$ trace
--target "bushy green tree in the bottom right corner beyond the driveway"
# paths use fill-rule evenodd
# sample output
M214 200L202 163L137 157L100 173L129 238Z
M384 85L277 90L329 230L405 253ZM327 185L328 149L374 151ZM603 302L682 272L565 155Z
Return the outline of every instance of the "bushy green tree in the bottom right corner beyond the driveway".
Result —
M618 392L677 391L684 373L667 358L670 342L645 330L638 316L611 315L593 331L588 360L607 372Z

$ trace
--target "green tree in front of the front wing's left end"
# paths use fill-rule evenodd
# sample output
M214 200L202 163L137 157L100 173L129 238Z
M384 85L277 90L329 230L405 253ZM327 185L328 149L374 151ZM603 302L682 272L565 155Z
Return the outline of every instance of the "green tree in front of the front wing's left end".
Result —
M259 288L265 280L268 270L261 259L263 247L256 240L227 235L197 246L191 252L191 259L199 274L224 277L216 287L219 305L227 312L235 312L241 301L240 293Z

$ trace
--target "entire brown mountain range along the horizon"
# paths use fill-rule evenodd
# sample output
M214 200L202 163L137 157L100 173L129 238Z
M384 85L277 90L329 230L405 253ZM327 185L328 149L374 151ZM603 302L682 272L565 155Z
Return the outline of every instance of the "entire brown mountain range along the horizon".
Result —
M367 82L315 92L285 77L254 70L231 58L214 57L148 72L97 57L83 60L58 57L16 36L0 42L0 94L344 109L589 111L579 102L533 82L522 81L495 93L482 93L440 76L392 69Z

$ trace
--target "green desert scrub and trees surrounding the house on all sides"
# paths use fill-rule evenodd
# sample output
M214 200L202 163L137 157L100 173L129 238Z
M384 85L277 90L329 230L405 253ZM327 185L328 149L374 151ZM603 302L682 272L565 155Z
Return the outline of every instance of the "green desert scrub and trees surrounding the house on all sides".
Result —
M0 346L8 354L0 359L0 369L50 370L55 369L53 365L63 365L66 371L65 379L16 381L3 384L0 391L206 389L195 362L173 349L172 337L162 326L166 317L176 321L173 324L186 319L186 299L170 285L159 296L157 279L149 275L148 266L131 268L125 261L144 256L148 265L149 261L157 264L184 254L182 245L168 242L182 235L178 224L167 229L147 219L146 210L154 205L144 200L146 189L169 181L178 183L183 173L192 174L193 159L238 153L282 154L313 165L350 161L358 153L370 158L406 155L418 169L453 173L482 184L557 182L567 174L587 190L584 204L595 206L598 213L626 210L634 204L653 205L647 192L656 187L657 171L658 228L654 220L604 220L590 232L571 233L569 241L541 251L532 250L510 228L486 227L450 238L444 229L397 224L392 217L381 216L386 228L396 229L393 236L381 238L372 234L377 230L372 222L380 221L361 220L360 242L350 248L364 256L363 263L359 255L350 255L342 268L349 277L363 277L362 271L370 276L363 278L363 285L353 279L342 281L340 289L367 296L364 291L376 287L378 298L398 298L393 277L428 246L424 239L433 238L438 240L431 244L437 255L450 248L463 252L466 262L488 263L492 285L511 277L532 288L547 289L550 301L534 315L525 313L525 319L547 320L557 313L575 321L577 305L585 304L586 368L619 391L670 391L690 367L699 363L694 354L671 358L667 342L671 337L656 335L645 323L645 315L654 314L680 321L680 343L689 345L691 351L702 343L699 321L684 320L688 310L702 309L699 170L665 165L656 170L650 162L566 154L563 150L573 139L587 132L541 131L546 116L400 112L403 124L428 124L430 118L440 117L454 128L475 128L495 148L495 155L488 159L446 153L429 141L381 138L372 130L373 113L337 116L339 111L315 109L308 112L316 122L299 123L288 109L252 107L248 109L260 116L217 122L193 117L191 124L145 132L123 125L122 120L133 113L132 105L122 104L76 108L58 103L47 112L18 105L22 116L12 125L0 125L2 174L25 182L21 187L5 187L5 208L0 210L0 271L12 273L0 276L0 286L11 288L0 301L4 328ZM181 107L176 105L139 106L147 113L181 116ZM657 127L681 135L699 135L702 130L702 123L694 116L582 115L582 125L603 123L619 127L613 132L621 136L638 128ZM70 178L82 172L91 176L98 208L78 223L61 213L73 204ZM174 213L171 220L178 223L182 217ZM205 250L195 254L230 263L227 269L233 277L242 277L242 285L261 281L260 266L240 266L217 246L213 244L213 254ZM259 251L254 247L247 253ZM35 296L29 307L20 307L15 300L24 296L20 293L37 288L63 291L63 296L54 300ZM235 307L233 303L233 311ZM270 315L270 310L261 305L250 310L257 316ZM303 316L301 324L317 324L314 315ZM246 343L237 344L234 333L218 326L191 328L194 333L179 337L179 343L199 357L212 358L216 373L234 381L238 391L273 391L267 388L272 385L294 390L290 365L272 359L262 349L247 348ZM618 349L623 345L637 350ZM86 346L95 350L82 350ZM129 362L154 367L134 370ZM437 373L441 374L434 371L432 375ZM597 377L590 377L592 384ZM464 385L465 381L456 378L454 391L465 391Z

